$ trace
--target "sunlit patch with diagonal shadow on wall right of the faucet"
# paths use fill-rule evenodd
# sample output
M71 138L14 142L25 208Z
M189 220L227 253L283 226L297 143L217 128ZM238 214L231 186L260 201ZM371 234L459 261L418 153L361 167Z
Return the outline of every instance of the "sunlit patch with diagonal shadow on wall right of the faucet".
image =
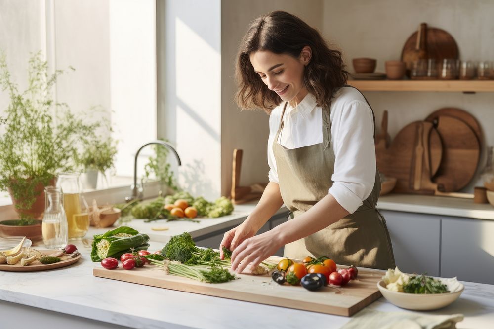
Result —
M176 140L184 164L179 183L193 194L218 197L221 54L179 17L175 46Z

